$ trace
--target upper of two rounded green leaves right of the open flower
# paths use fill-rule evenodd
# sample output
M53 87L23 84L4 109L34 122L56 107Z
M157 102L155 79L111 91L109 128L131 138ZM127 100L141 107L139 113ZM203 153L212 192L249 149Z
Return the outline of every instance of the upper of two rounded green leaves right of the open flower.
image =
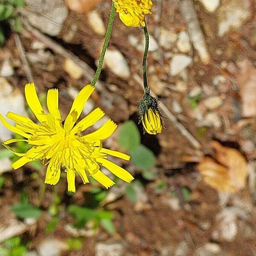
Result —
M132 151L140 145L140 131L133 121L124 122L119 130L117 141L120 147Z

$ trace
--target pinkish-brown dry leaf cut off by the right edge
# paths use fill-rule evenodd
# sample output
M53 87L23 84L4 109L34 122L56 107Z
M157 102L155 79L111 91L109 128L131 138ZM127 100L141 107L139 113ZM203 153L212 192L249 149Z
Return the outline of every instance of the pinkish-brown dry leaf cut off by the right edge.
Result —
M238 65L240 72L236 80L242 100L242 116L256 116L256 69L248 59L240 61Z

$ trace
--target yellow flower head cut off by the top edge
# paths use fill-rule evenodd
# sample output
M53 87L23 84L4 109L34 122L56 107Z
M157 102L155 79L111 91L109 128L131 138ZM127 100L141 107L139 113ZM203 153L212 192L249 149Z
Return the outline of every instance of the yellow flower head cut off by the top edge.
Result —
M126 26L145 26L145 16L151 14L151 0L113 0L119 18Z

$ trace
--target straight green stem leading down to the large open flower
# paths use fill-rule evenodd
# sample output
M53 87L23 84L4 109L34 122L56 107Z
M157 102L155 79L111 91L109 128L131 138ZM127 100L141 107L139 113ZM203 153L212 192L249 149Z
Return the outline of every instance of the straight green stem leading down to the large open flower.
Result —
M108 28L107 28L104 44L103 44L103 47L102 47L102 52L99 56L99 65L98 65L96 73L93 77L93 81L91 82L92 86L95 86L96 81L98 81L99 75L100 75L101 70L102 70L102 64L103 64L103 60L104 60L104 57L105 57L106 50L108 48L108 41L109 41L109 38L110 38L110 35L111 35L111 30L112 30L112 26L113 26L113 22L114 22L115 11L116 11L116 9L115 9L114 3L112 1L111 12L110 12L109 21L108 21Z

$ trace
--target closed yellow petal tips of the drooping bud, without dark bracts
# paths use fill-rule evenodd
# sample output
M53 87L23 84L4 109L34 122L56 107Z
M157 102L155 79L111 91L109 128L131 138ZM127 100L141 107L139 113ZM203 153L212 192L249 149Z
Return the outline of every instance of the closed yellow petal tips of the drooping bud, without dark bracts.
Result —
M162 119L158 111L149 108L142 116L142 124L148 134L157 134L162 132Z

